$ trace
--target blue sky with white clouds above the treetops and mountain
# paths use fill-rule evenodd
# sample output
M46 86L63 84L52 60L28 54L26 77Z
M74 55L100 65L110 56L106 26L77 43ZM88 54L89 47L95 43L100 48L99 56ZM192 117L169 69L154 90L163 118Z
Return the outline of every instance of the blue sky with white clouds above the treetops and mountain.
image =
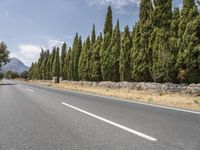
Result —
M182 0L173 0L180 5ZM83 39L95 23L103 29L108 5L112 5L114 24L132 29L138 20L140 0L0 0L0 41L5 41L11 57L26 65L36 61L40 47L51 49L67 42L78 32Z

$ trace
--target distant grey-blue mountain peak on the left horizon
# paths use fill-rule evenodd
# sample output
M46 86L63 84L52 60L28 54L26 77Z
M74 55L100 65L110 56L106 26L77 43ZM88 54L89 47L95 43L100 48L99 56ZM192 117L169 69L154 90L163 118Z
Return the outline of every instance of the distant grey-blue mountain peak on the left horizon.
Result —
M8 71L22 73L28 70L29 67L24 65L24 63L17 58L10 58L10 62L1 68L2 73L6 73Z

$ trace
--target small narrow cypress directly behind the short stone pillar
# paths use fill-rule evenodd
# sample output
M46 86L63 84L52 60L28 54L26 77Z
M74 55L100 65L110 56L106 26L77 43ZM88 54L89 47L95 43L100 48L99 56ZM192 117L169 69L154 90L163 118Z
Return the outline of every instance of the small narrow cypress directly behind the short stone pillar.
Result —
M56 56L54 58L53 63L53 76L59 79L60 77L60 56L59 56L59 48L57 47Z

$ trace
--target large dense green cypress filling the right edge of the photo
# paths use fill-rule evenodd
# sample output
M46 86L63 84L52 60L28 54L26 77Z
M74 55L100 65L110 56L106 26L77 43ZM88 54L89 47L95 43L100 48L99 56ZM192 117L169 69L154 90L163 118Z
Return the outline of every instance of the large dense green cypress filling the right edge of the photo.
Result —
M196 75L198 74L198 71L197 71L198 67L197 66L196 66L197 68L194 67L195 64L197 63L196 62L197 58L196 56L191 57L193 54L198 53L197 52L198 51L197 50L198 36L196 35L198 33L198 31L196 30L199 30L198 25L196 24L198 22L198 16L199 16L199 12L195 4L195 0L184 0L183 9L181 12L181 17L180 17L180 23L179 23L179 31L178 31L179 52L177 56L176 69L179 70L179 74L180 72L184 71L185 74L187 75L187 78L185 78L184 81L181 80L181 82L189 83L189 82L197 82L199 80L198 77L196 77ZM196 26L193 26L195 24ZM194 27L194 30L192 29L192 27ZM190 57L190 61L189 61L189 57ZM197 57L198 57L198 54L197 54ZM194 61L191 59L194 59ZM191 63L191 61L194 62L194 64ZM194 69L194 70L191 70L192 72L190 72L190 69L192 68L188 68L191 66L194 67L194 68L192 67ZM192 74L194 75L194 77L192 77Z

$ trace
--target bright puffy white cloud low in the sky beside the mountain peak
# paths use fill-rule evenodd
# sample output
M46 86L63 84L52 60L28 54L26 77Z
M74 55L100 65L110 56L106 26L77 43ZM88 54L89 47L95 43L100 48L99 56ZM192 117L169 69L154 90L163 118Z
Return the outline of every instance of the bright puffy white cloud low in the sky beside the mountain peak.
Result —
M33 44L21 44L19 50L11 52L10 57L16 57L23 63L30 66L32 62L36 62L40 56L41 47Z

